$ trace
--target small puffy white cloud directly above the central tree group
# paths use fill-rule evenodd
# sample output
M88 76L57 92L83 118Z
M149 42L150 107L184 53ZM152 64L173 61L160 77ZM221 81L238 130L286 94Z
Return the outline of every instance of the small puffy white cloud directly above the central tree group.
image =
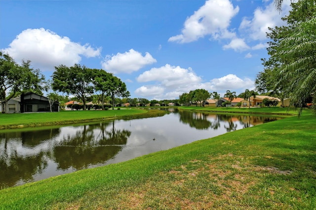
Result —
M142 56L140 52L130 49L128 52L107 55L101 64L102 68L109 72L131 73L156 62L157 60L150 53L146 52L145 56Z

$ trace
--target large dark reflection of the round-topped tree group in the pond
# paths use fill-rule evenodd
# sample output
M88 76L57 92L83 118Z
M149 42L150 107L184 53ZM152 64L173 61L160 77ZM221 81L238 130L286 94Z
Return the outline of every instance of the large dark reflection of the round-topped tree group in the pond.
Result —
M84 125L74 137L68 136L54 149L58 168L86 168L113 158L131 135L127 130L106 130L109 123Z

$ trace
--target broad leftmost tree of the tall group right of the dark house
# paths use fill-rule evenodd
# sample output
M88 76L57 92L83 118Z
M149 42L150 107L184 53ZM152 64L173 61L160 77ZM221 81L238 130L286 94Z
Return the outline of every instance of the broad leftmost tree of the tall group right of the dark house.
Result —
M83 110L86 110L86 99L93 94L91 84L92 70L75 64L73 67L60 65L55 67L52 78L54 91L60 91L76 96L82 100Z

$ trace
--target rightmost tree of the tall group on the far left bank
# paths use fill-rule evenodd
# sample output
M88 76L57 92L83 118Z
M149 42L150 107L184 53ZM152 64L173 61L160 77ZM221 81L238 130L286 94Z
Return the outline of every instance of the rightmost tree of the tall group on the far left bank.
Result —
M111 74L108 80L107 95L112 99L112 109L114 109L115 98L123 97L127 98L130 96L129 91L126 90L126 84L122 82L118 77Z

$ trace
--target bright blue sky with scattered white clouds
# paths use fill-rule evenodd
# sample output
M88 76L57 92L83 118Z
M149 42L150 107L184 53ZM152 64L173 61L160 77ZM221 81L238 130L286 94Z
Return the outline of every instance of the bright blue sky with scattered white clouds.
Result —
M0 50L50 79L74 64L120 78L130 98L255 88L284 0L0 0Z

